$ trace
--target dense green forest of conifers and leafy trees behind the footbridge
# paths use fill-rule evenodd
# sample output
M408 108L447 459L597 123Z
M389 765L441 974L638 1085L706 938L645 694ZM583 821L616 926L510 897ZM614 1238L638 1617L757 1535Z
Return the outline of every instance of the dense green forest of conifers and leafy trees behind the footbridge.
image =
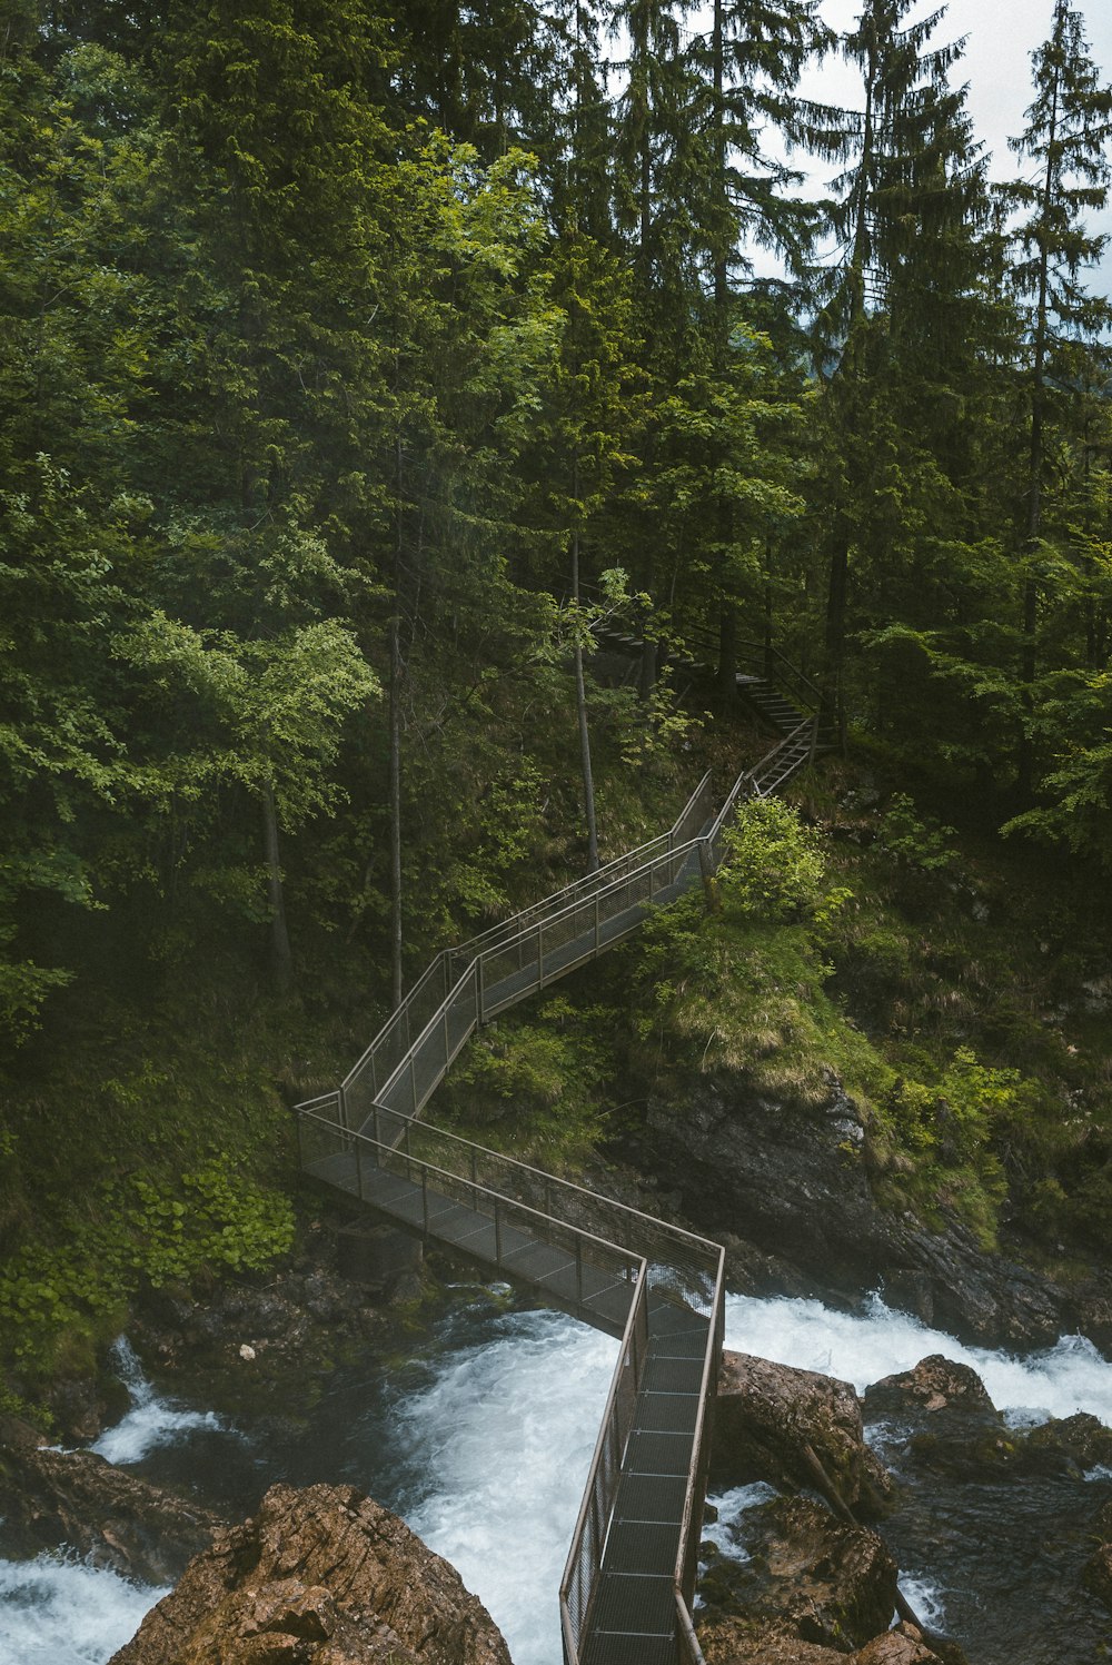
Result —
M280 1089L724 756L684 654L797 666L921 872L961 806L1107 884L1112 90L1047 0L992 185L911 13L7 0L8 1315L73 1317L78 1170L87 1242L185 1172L280 1247Z

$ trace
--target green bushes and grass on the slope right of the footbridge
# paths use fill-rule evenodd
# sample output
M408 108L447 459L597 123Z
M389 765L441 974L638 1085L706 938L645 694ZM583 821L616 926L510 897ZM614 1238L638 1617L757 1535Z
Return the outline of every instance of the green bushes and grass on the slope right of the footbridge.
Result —
M688 896L628 951L638 1069L678 1104L691 1071L802 1111L841 1086L882 1204L964 1219L985 1247L1005 1225L1050 1255L1107 1242L1112 1092L1084 982L1107 976L1099 929L1060 876L1015 902L1022 857L972 857L907 794L859 799L827 773L804 804L806 821L744 806L717 904Z

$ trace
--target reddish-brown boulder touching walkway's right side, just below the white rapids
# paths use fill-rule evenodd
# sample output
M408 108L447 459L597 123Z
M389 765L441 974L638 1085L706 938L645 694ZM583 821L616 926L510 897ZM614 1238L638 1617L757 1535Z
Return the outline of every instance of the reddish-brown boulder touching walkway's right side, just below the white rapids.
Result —
M714 1467L732 1485L767 1480L832 1492L867 1515L882 1510L887 1474L864 1442L847 1382L724 1352L714 1407Z

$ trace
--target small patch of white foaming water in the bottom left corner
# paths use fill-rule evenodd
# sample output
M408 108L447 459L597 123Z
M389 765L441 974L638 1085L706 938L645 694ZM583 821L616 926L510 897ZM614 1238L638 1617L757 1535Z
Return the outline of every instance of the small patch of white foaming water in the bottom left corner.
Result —
M165 1593L63 1555L0 1560L0 1660L103 1665Z

